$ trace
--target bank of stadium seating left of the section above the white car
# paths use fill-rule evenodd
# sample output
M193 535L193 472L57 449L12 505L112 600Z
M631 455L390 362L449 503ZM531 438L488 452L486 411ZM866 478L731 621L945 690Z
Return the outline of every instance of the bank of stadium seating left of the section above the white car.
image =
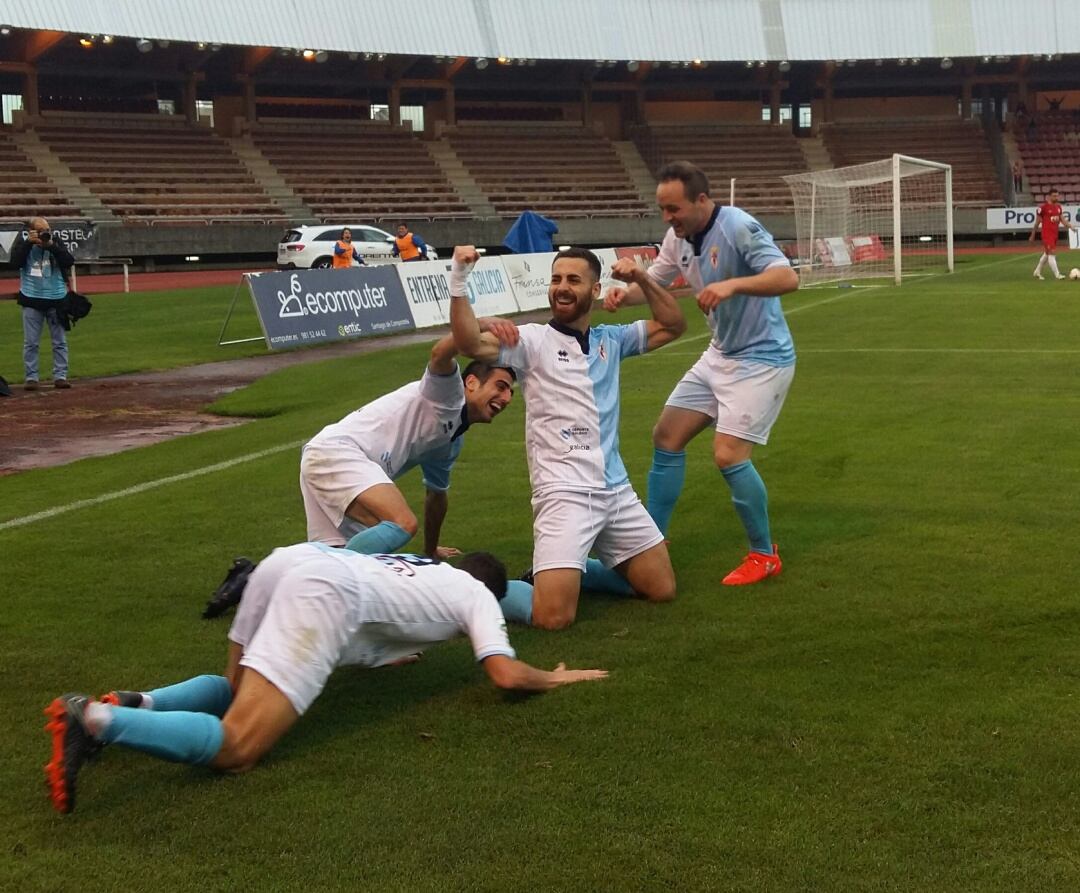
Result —
M285 219L212 131L165 116L49 116L39 137L124 222Z

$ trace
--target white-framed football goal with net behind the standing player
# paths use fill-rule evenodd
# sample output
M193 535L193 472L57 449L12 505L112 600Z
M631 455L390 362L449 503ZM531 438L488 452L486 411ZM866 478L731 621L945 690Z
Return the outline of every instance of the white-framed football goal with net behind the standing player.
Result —
M791 174L802 284L953 271L953 167L908 155Z

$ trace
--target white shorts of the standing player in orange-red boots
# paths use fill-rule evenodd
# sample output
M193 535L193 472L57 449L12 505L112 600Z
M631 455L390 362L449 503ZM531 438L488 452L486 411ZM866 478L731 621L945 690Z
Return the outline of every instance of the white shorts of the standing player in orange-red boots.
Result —
M730 360L710 344L666 405L703 412L720 434L767 444L794 378L795 366Z

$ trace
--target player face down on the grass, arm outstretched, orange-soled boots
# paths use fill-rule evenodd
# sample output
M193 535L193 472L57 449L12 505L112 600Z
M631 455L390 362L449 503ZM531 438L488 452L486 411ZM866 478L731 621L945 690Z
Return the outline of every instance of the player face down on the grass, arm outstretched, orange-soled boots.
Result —
M228 772L254 767L319 696L335 667L402 662L464 633L502 689L545 691L603 679L602 669L537 669L516 659L497 599L507 569L494 555L458 567L413 555L361 555L320 543L274 550L256 568L229 630L225 676L46 708L53 806L70 812L87 759L122 744L172 762Z

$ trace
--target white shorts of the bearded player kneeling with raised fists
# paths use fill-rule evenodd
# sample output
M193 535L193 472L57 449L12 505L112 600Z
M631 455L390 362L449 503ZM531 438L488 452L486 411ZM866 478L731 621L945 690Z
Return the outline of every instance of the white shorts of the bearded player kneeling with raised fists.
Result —
M532 497L532 572L576 567L590 550L615 567L664 541L654 520L624 484L613 490L549 489Z

